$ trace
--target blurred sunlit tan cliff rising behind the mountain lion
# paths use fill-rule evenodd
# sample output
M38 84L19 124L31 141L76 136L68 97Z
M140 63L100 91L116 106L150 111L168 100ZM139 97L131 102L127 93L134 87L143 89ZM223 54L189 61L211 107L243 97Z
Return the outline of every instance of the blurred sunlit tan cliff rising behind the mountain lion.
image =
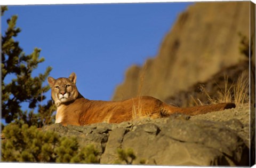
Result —
M223 67L244 59L241 38L249 37L250 2L198 2L181 13L158 54L143 67L133 65L113 100L151 95L165 101L204 82ZM139 92L139 93L138 93Z

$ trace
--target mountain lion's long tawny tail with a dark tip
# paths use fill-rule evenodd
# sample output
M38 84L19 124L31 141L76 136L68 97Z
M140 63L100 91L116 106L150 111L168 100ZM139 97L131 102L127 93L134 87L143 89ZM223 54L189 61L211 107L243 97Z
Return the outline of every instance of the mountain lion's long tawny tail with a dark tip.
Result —
M187 115L198 115L198 114L206 114L212 111L220 111L229 108L235 108L235 103L218 103L215 105L206 105L206 106L195 106L195 107L186 107L181 108L181 112Z

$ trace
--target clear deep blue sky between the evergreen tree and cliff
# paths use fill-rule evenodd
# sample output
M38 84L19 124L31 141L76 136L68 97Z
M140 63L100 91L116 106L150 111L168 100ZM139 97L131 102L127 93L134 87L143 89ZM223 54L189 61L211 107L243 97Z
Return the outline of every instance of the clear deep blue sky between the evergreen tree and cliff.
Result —
M123 82L125 70L155 57L164 36L178 14L191 2L30 5L9 6L1 22L18 15L17 39L26 54L41 48L54 78L77 74L79 92L92 100L110 100L115 87ZM45 83L46 85L47 83ZM50 99L50 91L46 94Z

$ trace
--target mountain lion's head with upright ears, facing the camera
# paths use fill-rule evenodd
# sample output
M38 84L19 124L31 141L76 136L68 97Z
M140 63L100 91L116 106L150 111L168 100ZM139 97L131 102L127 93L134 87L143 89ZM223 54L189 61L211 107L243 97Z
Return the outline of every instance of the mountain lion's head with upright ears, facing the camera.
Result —
M68 78L54 79L48 77L47 81L52 89L52 99L58 107L61 103L74 101L79 93L76 88L76 74L72 73Z

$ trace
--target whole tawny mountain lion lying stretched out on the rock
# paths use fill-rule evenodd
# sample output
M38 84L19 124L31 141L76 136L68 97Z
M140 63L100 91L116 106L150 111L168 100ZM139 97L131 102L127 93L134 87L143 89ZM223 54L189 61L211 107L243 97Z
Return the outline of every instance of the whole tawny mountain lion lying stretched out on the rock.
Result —
M52 98L57 106L55 123L63 125L86 125L93 123L121 123L135 118L168 117L174 113L187 115L206 114L228 108L234 103L179 108L167 105L156 98L143 96L124 101L96 101L85 99L77 90L76 74L69 78L48 78Z

